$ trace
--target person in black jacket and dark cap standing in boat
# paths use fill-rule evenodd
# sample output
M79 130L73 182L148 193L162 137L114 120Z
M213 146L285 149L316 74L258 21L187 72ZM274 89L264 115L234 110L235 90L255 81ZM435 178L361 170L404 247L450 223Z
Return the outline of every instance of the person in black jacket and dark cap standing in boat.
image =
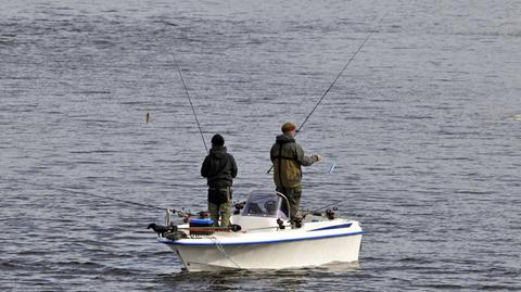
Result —
M228 154L225 138L216 134L212 137L212 149L204 158L201 176L208 181L208 211L214 226L228 227L230 224L231 186L237 176L236 160Z

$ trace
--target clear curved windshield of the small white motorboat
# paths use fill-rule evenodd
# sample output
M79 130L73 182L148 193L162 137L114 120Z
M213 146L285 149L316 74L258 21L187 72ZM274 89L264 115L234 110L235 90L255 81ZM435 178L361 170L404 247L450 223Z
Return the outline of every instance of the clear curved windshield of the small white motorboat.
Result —
M242 215L288 219L288 202L278 193L252 193Z

